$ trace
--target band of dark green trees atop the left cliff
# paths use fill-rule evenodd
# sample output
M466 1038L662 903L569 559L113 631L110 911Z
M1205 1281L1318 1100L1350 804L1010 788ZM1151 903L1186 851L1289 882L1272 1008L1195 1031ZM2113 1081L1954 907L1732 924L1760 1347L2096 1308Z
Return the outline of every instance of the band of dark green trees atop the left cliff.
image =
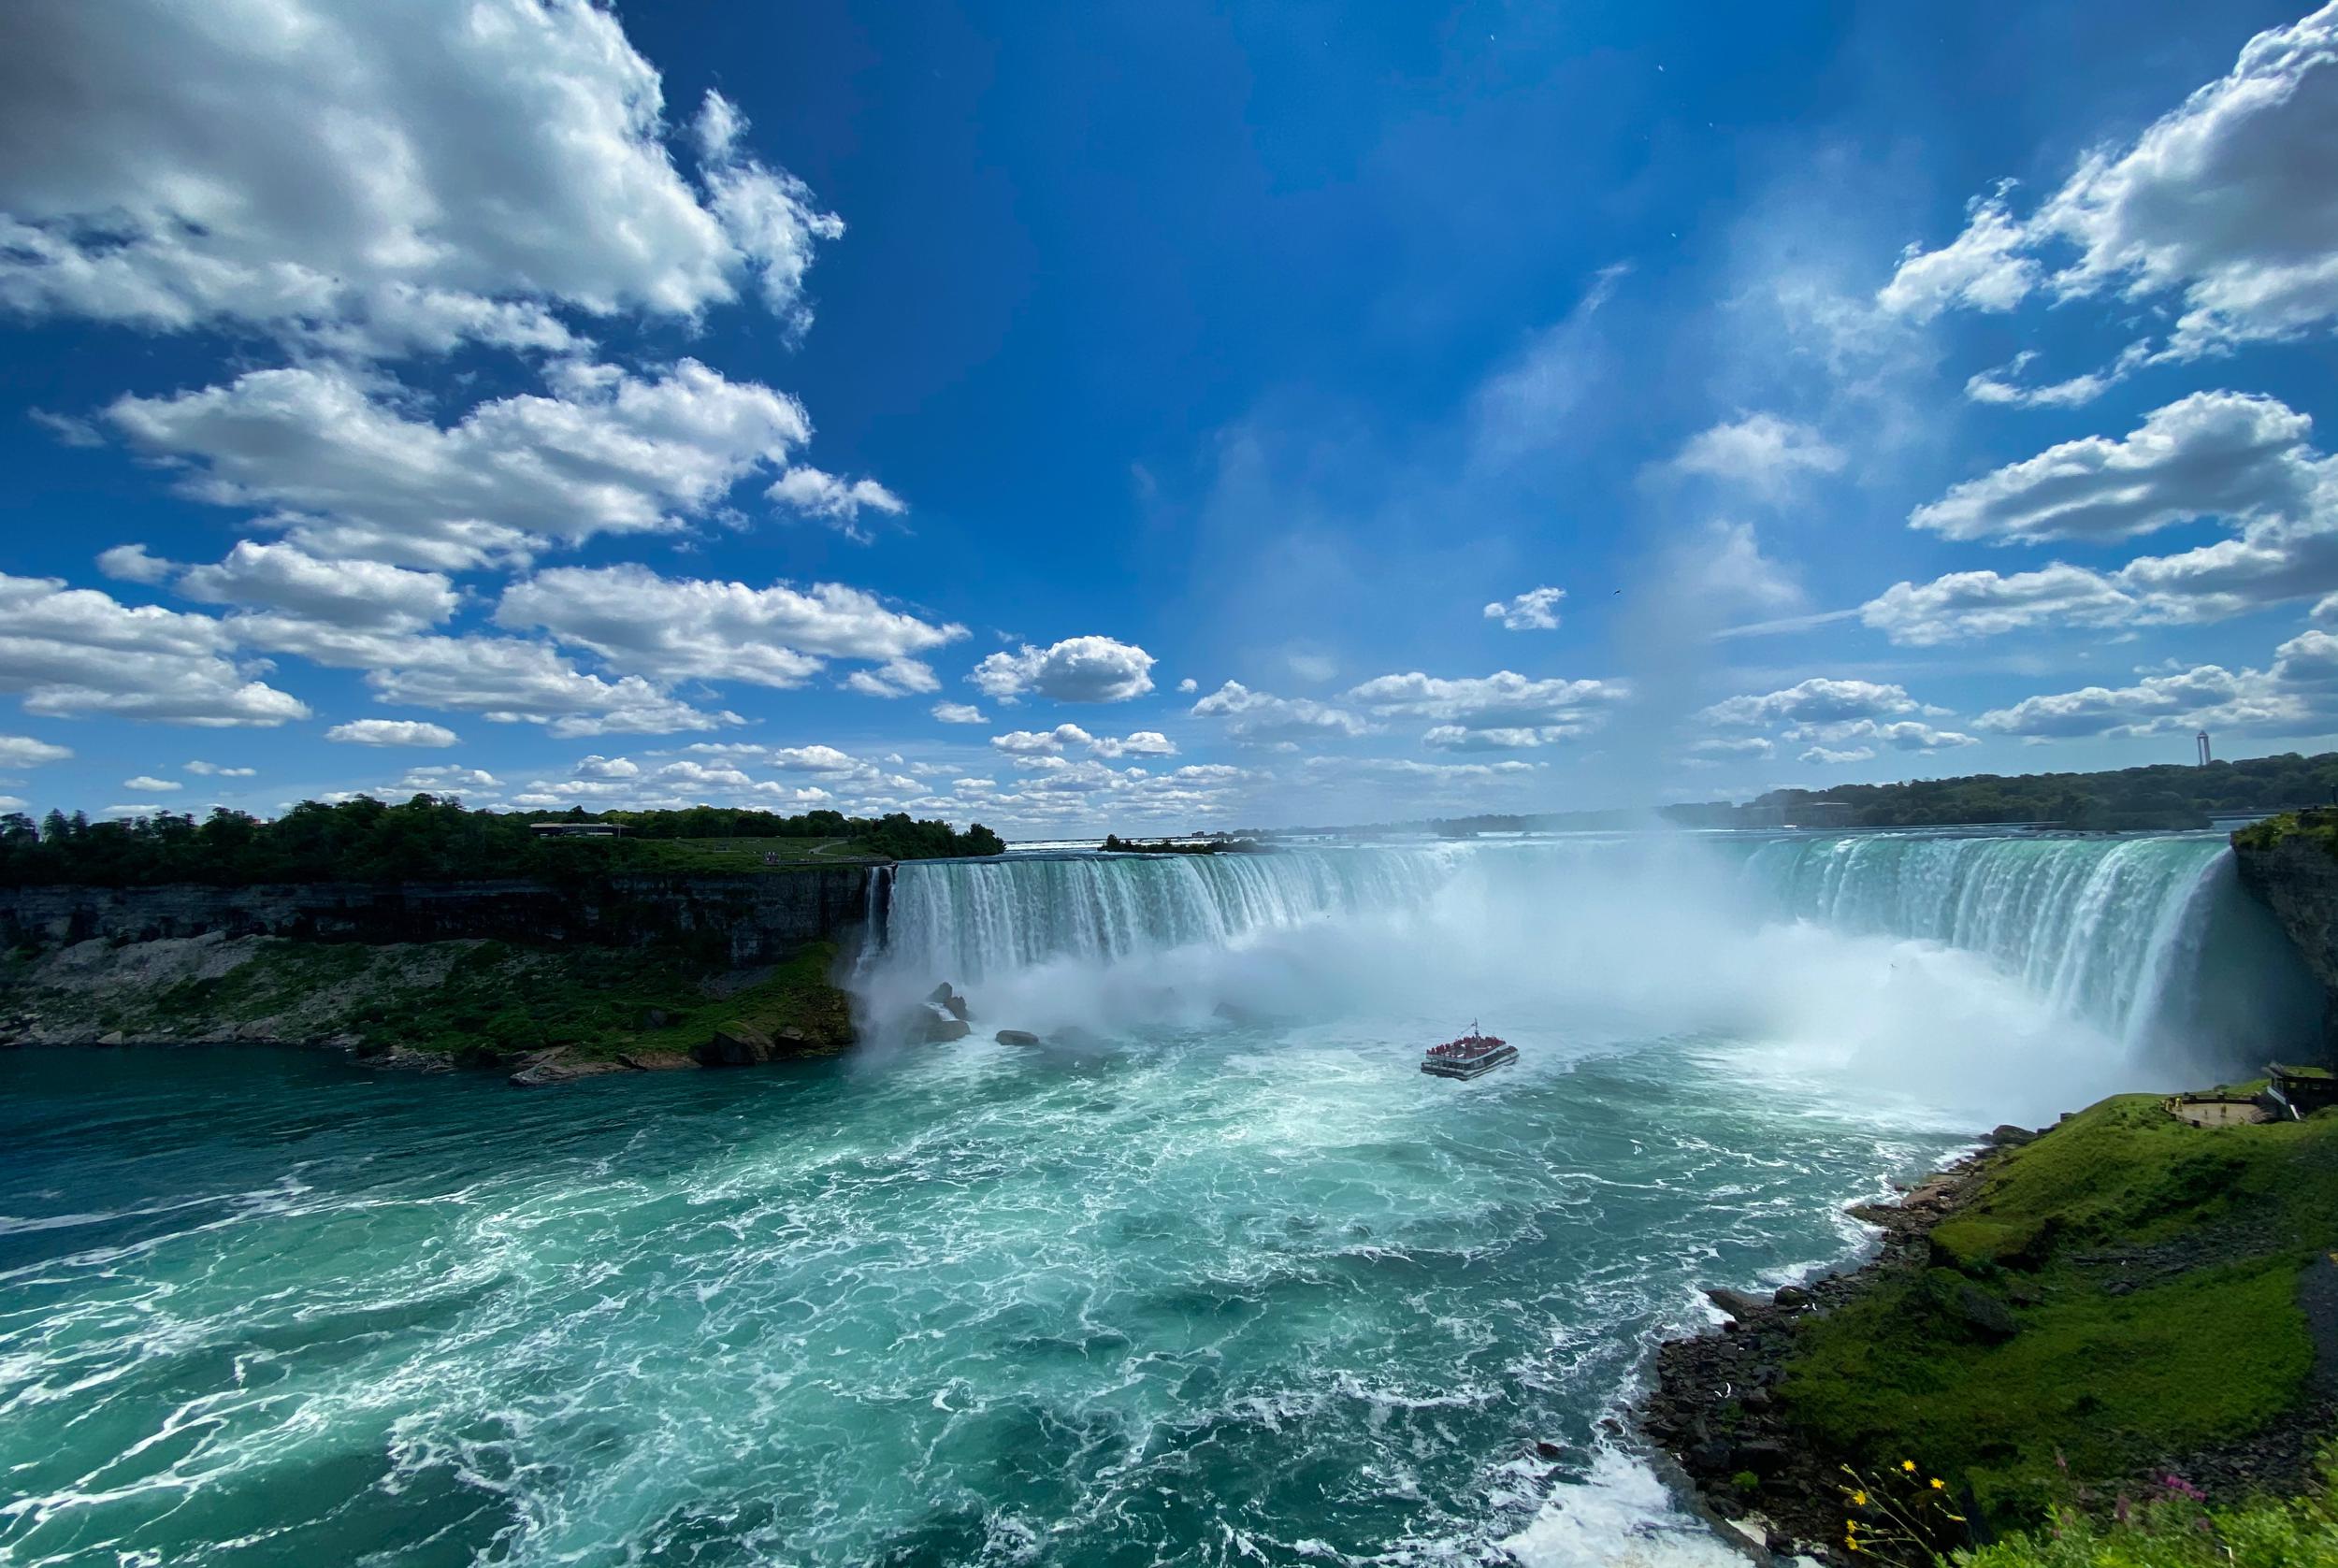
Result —
M613 823L615 839L545 839L535 823ZM0 886L154 886L299 881L589 881L624 874L722 874L853 860L996 855L1005 846L975 823L912 820L907 813L849 818L837 811L603 811L563 816L470 811L416 795L390 806L372 797L302 802L281 818L213 811L203 820L159 813L91 823L51 811L35 823L0 816Z

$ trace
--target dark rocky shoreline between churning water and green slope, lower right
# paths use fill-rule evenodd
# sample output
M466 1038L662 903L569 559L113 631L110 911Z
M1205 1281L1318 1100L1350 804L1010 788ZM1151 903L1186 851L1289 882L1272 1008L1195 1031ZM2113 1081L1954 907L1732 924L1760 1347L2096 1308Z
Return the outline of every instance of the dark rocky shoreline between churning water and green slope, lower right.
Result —
M1817 1453L1782 1418L1775 1397L1793 1323L1842 1306L1887 1274L1922 1269L1931 1229L1980 1189L2006 1150L2034 1136L2001 1126L1985 1147L1927 1175L1896 1203L1854 1206L1852 1217L1882 1231L1868 1262L1770 1295L1709 1288L1704 1295L1728 1320L1658 1346L1655 1388L1634 1409L1634 1421L1669 1456L1667 1479L1688 1489L1695 1512L1718 1521L1730 1545L1746 1547L1756 1561L1796 1554L1847 1561L1833 1547L1842 1533L1840 1461ZM2004 1309L1973 1292L1971 1311L1994 1320Z

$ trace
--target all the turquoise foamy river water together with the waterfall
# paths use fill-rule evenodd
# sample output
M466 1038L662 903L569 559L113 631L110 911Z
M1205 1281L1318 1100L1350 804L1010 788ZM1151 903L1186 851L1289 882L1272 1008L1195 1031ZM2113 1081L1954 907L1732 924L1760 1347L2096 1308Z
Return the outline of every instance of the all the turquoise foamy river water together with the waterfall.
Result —
M870 1014L952 979L975 1040L542 1094L0 1054L0 1561L1718 1563L1604 1425L1697 1285L2315 1007L2209 837L881 893ZM1414 1070L1473 1017L1524 1059Z

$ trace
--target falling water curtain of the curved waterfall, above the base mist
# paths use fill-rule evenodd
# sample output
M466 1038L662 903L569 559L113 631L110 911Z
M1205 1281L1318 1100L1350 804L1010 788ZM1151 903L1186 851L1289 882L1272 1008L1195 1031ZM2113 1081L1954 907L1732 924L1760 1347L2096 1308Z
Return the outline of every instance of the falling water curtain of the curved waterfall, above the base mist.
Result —
M2216 1042L2228 1056L2305 1042L2319 991L2237 883L2221 837L1976 832L1627 834L1263 855L1050 853L907 862L872 879L872 942L902 986L984 981L1045 963L1113 965L1241 949L1267 932L1400 916L1447 942L1527 942L1559 965L1660 965L1730 932L1810 923L1987 958L2053 1012L2137 1054ZM1627 935L1630 932L1630 935ZM1548 946L1534 942L1550 937ZM1637 942L1637 946L1632 946ZM1426 949L1424 949L1426 951ZM1566 960L1580 972L1580 956ZM1559 965L1566 967L1566 965Z

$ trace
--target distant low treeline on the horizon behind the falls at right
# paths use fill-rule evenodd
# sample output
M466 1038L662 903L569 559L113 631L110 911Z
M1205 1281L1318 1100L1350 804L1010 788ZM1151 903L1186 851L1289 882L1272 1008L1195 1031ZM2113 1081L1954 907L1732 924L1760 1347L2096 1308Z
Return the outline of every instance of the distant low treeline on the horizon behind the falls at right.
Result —
M1749 802L1697 802L1660 809L1480 813L1361 823L1349 827L1239 827L1239 837L1274 839L1307 832L1478 832L1644 827L1662 818L1681 827L1777 827L1796 809L1833 802L1828 825L1842 827L1957 827L1992 823L2053 823L2088 832L2207 827L2212 816L2326 806L2338 802L2338 752L2280 752L2237 762L2156 762L2095 773L1964 773L1910 778L1887 785L1831 790L1770 790ZM1812 813L1817 816L1817 813Z

